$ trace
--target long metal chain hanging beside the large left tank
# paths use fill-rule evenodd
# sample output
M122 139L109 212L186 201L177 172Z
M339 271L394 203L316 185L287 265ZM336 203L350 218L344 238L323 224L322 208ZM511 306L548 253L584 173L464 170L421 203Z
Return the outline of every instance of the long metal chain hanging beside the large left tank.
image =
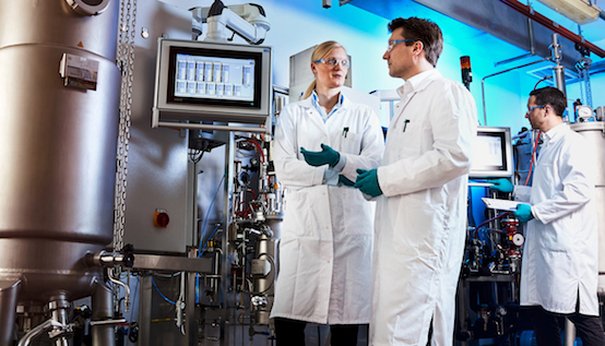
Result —
M128 150L132 115L132 82L134 70L134 32L137 0L121 0L120 33L117 63L121 70L120 124L116 154L116 190L114 202L114 251L123 248Z

